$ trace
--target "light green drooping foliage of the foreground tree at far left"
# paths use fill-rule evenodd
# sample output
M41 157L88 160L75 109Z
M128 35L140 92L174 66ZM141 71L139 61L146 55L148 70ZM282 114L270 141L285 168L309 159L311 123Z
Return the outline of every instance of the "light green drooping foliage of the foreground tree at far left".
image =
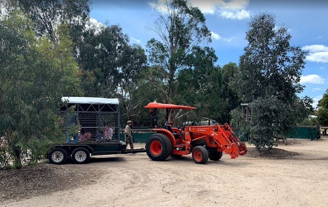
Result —
M80 95L72 42L65 26L56 45L36 38L33 24L14 10L0 20L1 167L35 163L49 141L63 140L57 116L61 96Z

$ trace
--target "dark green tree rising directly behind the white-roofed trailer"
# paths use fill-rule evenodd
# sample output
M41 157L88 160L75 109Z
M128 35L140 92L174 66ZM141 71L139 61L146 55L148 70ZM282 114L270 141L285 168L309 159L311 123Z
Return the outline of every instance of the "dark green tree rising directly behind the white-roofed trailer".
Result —
M118 97L124 109L121 112L131 119L140 104L133 95L141 78L138 74L147 65L144 49L129 44L118 25L103 25L84 32L77 60L85 95Z

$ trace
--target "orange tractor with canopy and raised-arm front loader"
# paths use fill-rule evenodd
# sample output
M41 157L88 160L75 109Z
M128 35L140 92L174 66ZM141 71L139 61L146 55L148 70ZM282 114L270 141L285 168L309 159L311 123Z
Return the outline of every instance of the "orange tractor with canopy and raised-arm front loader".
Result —
M178 157L192 153L196 163L204 164L209 158L219 160L222 152L229 154L231 158L247 152L245 143L239 140L228 123L224 125L216 123L213 126L195 126L192 123L189 126L171 128L168 123L170 110L196 109L194 107L151 102L145 108L151 109L155 128L152 131L157 132L146 141L146 152L152 160L163 161L170 155ZM166 109L166 123L163 129L158 129L156 116L158 109Z

